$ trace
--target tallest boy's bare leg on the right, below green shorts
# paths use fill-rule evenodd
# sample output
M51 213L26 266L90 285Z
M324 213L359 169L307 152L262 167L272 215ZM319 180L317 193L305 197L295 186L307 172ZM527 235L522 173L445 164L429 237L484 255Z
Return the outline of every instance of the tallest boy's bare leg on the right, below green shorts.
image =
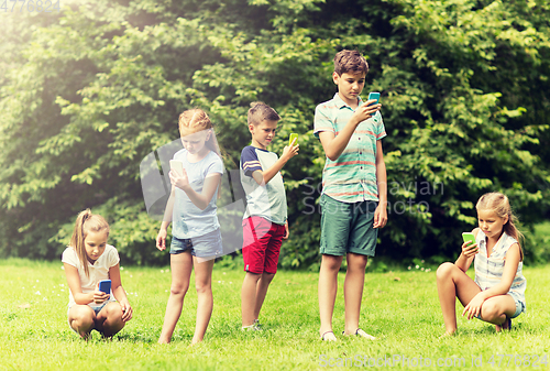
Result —
M344 281L345 302L345 327L344 334L355 334L359 328L359 317L361 314L361 301L363 298L363 286L365 283L366 255L349 252L348 271Z

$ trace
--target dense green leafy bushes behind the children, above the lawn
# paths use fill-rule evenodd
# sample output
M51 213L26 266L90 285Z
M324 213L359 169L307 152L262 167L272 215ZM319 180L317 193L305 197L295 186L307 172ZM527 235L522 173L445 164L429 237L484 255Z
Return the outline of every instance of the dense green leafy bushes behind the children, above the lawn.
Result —
M550 203L549 15L534 0L100 0L11 13L0 254L57 259L90 207L129 261L161 263L141 160L178 138L179 112L200 107L235 168L246 110L262 100L283 117L272 151L300 134L283 171L292 237L280 262L315 269L324 155L314 109L336 92L330 61L343 47L369 59L364 94L382 92L389 221L377 254L453 258L488 190L505 192L528 229Z

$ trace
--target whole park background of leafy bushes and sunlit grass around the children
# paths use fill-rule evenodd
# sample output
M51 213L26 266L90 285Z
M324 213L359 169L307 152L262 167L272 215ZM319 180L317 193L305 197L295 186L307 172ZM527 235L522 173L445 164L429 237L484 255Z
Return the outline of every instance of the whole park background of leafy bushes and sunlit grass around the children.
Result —
M366 368L394 354L477 370L480 357L485 367L525 369L546 354L539 369L548 369L547 1L58 3L45 13L45 1L20 1L14 11L13 1L0 1L0 369L315 370L329 368L329 359L359 356ZM317 335L324 156L312 119L316 105L336 92L331 59L344 47L370 63L363 97L382 92L389 207L361 317L378 341L337 334L341 341L327 345ZM175 341L156 345L168 257L154 248L160 221L146 211L140 164L178 139L183 110L199 107L217 126L227 168L238 168L255 100L283 117L272 151L280 153L290 132L300 134L300 154L283 170L292 236L263 308L265 330L240 330L237 253L215 264L206 341L188 347L191 288ZM439 339L435 270L455 259L461 232L476 225L476 199L491 190L509 196L526 233L528 312L508 334L460 318L459 335ZM97 334L80 341L66 326L59 258L88 207L111 225L109 242L135 310L113 342ZM342 326L340 290L334 328ZM515 356L505 367L495 363L498 353Z

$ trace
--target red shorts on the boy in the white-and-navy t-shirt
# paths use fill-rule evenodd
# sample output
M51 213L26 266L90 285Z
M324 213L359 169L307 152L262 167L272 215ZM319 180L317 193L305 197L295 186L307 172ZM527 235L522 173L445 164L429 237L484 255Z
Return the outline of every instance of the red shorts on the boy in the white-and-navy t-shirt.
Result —
M254 216L244 219L242 226L244 271L256 274L277 273L285 226Z

